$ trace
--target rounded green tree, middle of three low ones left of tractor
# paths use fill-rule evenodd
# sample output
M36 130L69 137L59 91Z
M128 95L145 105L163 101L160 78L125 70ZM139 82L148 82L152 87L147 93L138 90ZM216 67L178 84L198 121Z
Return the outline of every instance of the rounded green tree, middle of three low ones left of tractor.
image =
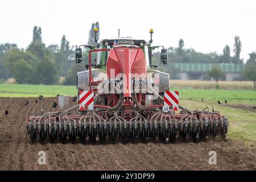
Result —
M44 57L36 65L35 81L38 84L55 84L57 81L57 68L55 62L50 57Z

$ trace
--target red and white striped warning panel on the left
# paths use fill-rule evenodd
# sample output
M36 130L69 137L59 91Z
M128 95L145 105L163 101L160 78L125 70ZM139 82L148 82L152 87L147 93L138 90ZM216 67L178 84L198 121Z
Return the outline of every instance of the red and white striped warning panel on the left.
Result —
M79 110L93 110L93 91L79 92Z

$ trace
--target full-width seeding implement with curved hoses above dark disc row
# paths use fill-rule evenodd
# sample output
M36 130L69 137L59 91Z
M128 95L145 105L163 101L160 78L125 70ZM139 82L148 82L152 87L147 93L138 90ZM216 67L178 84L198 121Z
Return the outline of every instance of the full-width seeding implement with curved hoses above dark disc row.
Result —
M151 90L158 96L158 102L163 103L163 97ZM102 96L104 93L98 93L94 102ZM195 142L207 136L220 134L225 137L228 132L228 119L217 111L210 112L209 106L201 111L192 111L179 105L180 114L175 114L172 110L164 112L163 105L141 105L137 94L133 94L132 100L129 115L125 114L122 94L113 107L94 105L93 111L81 112L79 105L75 105L63 111L34 115L28 117L27 134L31 142L37 138L50 138L52 142L61 140L63 143L67 138L71 141L80 138L81 142L139 138L175 142L176 139L187 140L189 137Z

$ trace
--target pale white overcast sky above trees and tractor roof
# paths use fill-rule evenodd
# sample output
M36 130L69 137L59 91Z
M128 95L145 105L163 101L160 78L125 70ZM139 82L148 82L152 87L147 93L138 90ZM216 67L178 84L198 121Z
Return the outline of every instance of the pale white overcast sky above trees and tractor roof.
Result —
M1 0L0 43L26 48L33 27L42 27L43 42L60 44L65 34L72 44L88 41L93 22L100 23L100 39L121 36L149 40L154 28L154 46L176 47L180 38L185 48L222 53L234 36L242 42L241 57L256 51L255 0L193 1L58 1ZM233 51L232 51L233 55Z

